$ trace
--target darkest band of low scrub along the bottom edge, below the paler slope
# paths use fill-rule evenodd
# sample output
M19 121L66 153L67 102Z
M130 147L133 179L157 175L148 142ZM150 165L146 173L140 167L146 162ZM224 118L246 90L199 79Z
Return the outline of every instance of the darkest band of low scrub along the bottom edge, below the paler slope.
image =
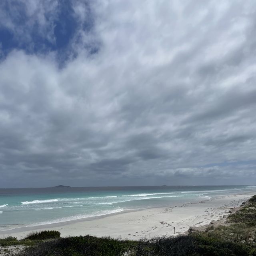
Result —
M128 254L130 252L130 254ZM128 241L94 236L38 242L17 256L256 256L255 248L203 234Z

